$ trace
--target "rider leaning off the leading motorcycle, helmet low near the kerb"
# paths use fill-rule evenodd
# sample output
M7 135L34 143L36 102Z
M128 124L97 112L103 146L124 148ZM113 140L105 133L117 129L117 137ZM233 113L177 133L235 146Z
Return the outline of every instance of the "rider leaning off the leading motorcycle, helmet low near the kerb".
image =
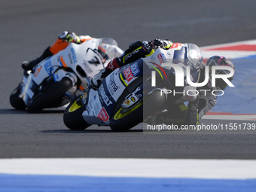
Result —
M146 56L150 56L154 53L158 47L168 50L172 47L172 41L169 40L161 40L154 39L151 42L148 41L136 41L130 45L129 49L125 50L122 56L118 58L114 58L111 62L108 63L108 66L105 69L102 69L101 72L96 74L92 78L93 87L99 87L102 80L108 76L114 69L119 68L120 66L124 66L127 63L134 62L139 58L144 58ZM212 56L206 62L206 65L211 66L231 66L234 69L233 63L226 59L224 56ZM204 64L202 66L205 66ZM204 80L204 67L201 70L200 81ZM224 74L225 72L221 72L220 74ZM229 79L233 80L233 77ZM200 82L199 81L199 82ZM197 99L191 100L185 105L183 102L176 103L177 105L169 106L171 110L165 110L160 114L155 115L151 118L151 122L153 124L159 123L175 123L178 125L188 124L188 125L197 125L199 124L199 120L203 117L206 112L210 111L216 105L217 96L212 95L212 90L224 90L227 87L227 84L221 82L219 85L216 82L216 87L212 87L211 82L209 81L205 87L200 87L201 90L211 90L206 94L200 93L197 96Z

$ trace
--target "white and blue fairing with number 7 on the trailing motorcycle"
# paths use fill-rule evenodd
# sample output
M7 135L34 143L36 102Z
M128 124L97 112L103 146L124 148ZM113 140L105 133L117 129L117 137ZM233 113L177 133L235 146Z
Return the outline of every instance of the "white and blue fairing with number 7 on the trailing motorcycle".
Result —
M40 89L41 84L53 76L55 82L59 82L62 78L70 78L73 82L73 87L66 96L74 99L77 85L75 84L80 78L82 87L86 87L83 81L86 77L93 77L98 73L105 64L102 63L102 58L96 50L101 40L91 39L83 44L71 43L65 50L59 51L55 55L44 59L34 69L34 74L30 73L29 78L23 77L23 100L28 105L35 93ZM76 64L76 65L75 65ZM68 69L69 70L66 70ZM70 70L72 69L72 71Z

